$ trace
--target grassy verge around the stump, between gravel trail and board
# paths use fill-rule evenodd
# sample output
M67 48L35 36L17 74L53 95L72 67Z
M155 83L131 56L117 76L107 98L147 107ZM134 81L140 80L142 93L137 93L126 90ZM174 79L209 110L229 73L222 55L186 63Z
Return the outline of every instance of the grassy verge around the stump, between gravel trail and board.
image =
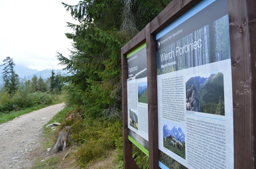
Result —
M35 159L32 168L35 169L53 169L58 168L104 168L116 169L119 161L118 155L122 155L122 121L107 119L90 119L74 116L71 119L63 120L67 115L74 112L64 108L57 113L46 125L53 122L59 122L61 125L57 130L51 128L44 129L44 138L41 153ZM63 126L72 126L72 140L64 152L49 153L47 148L53 148L58 132ZM117 139L120 138L120 139ZM116 142L118 141L117 145ZM120 143L119 143L120 142ZM119 147L119 150L117 149ZM63 160L64 156L68 156ZM45 161L42 161L45 160Z

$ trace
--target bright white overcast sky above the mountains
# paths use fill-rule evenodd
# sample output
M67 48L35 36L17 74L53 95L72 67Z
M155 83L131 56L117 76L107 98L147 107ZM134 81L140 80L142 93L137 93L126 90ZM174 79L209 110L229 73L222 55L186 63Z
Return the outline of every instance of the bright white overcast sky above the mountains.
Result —
M39 71L63 68L56 51L68 57L72 41L64 33L72 30L66 22L75 22L61 2L79 0L0 0L0 64L10 56L16 65Z

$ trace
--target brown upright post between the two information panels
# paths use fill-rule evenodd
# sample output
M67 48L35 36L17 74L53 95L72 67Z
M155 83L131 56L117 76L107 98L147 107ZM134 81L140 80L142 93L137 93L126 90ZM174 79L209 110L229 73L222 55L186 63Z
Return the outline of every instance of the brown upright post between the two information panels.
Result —
M146 25L147 93L148 93L148 147L149 168L159 168L158 162L158 114L156 35L151 34L150 23Z

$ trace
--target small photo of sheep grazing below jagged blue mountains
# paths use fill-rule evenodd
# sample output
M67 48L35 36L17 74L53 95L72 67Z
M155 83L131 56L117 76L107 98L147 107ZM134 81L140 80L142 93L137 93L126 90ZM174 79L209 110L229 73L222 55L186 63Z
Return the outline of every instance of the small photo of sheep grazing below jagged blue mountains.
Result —
M163 120L163 147L186 159L185 127Z

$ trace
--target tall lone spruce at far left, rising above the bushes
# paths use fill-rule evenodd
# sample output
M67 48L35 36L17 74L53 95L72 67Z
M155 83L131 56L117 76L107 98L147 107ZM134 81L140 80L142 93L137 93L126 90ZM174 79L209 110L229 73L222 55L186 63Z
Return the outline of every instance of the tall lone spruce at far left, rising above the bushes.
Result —
M3 62L4 63L0 66L4 66L2 72L4 87L6 90L8 90L9 94L13 94L17 90L19 84L19 76L14 71L15 63L9 56L6 57Z

